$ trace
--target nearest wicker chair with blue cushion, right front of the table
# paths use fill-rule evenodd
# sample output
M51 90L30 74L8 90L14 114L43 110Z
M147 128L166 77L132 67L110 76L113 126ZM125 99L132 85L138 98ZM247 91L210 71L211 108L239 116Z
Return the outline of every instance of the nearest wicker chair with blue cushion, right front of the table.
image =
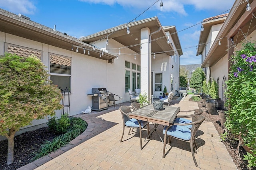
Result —
M180 141L190 142L190 150L192 153L192 157L196 167L198 167L195 152L196 152L196 132L202 122L204 121L205 117L202 115L192 115L192 122L191 123L174 123L172 126L164 127L164 149L163 149L163 158L165 157L165 146L166 146L166 139L168 137L168 144L170 145L171 138L175 138ZM186 125L192 125L191 129L185 127ZM197 152L196 152L197 153Z

